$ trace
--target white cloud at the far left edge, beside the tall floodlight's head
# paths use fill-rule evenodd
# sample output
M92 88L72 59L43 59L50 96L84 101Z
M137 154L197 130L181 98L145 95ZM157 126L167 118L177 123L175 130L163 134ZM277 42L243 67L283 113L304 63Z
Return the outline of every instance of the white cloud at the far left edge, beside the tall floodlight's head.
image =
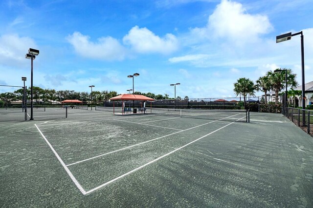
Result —
M16 34L0 37L0 64L19 65L25 60L29 48L38 48L35 41Z

